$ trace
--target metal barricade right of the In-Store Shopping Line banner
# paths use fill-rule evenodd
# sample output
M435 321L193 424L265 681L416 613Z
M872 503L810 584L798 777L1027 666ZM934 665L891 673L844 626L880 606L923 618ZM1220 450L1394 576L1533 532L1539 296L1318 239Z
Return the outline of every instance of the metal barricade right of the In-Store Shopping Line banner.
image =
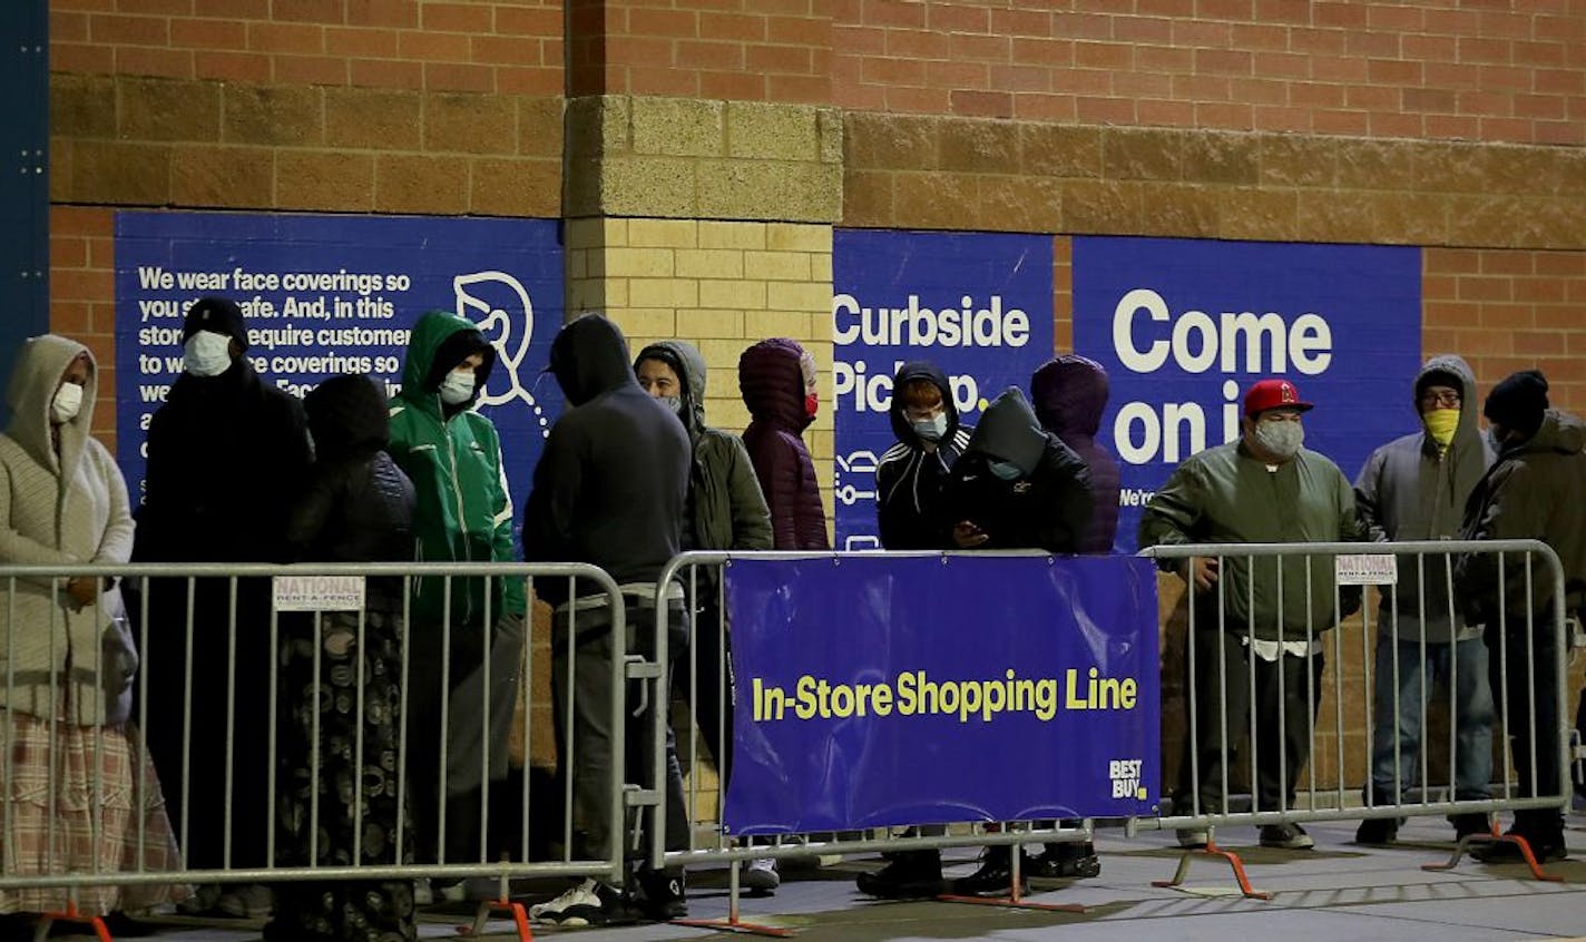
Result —
M1178 782L1180 801L1170 814L1140 820L1139 826L1177 829L1182 844L1193 847L1205 845L1215 828L1232 825L1477 815L1467 818L1469 823L1484 821L1486 815L1500 810L1567 807L1569 787L1562 777L1567 723L1562 715L1569 703L1565 620L1572 612L1562 568L1546 544L1530 539L1205 544L1158 546L1140 555L1169 561L1188 584L1188 734L1180 764L1180 777L1188 782ZM1388 563L1373 565L1373 558ZM1462 596L1470 587L1456 585L1461 558L1480 560L1489 568L1500 604L1488 609L1484 625L1465 625L1464 634L1459 634L1462 622L1454 618L1443 641L1437 634L1439 620L1448 622L1450 612L1469 607L1462 606ZM1196 560L1213 560L1221 577L1210 587L1196 588ZM1348 588L1337 582L1337 560L1345 561L1343 569L1364 565L1381 574L1377 580L1361 580L1377 585L1378 599L1359 606L1358 636L1343 623L1351 614L1350 592L1359 592L1361 585ZM1332 587L1329 599L1315 596L1318 584ZM1296 587L1304 592L1299 618L1293 617L1293 599L1285 604L1285 593ZM1277 622L1280 628L1275 630L1272 618L1258 617L1258 595L1269 611L1275 606L1283 612ZM1472 657L1461 657L1454 645L1470 642L1475 644L1469 649ZM1502 745L1496 790L1489 790L1486 780L1461 782L1461 772L1465 777L1470 772L1459 768L1461 763L1484 766L1484 756L1478 755L1481 729L1473 728L1480 726L1480 717L1461 726L1470 712L1469 698L1488 688L1481 666L1488 653L1496 661L1496 677L1526 679L1519 698L1511 695L1515 684L1491 690L1492 723ZM1353 691L1354 696L1347 690L1342 669L1347 655L1358 655L1361 663L1361 690ZM1331 685L1323 668L1327 660L1332 663ZM1278 663L1286 668L1275 668ZM1532 674L1532 666L1542 671L1540 677ZM1472 671L1481 676L1470 677ZM1442 703L1450 715L1448 758L1440 768L1432 764L1426 734L1431 672L1443 676ZM1304 696L1294 696L1294 685L1304 685ZM1465 703L1461 691L1465 691ZM1331 695L1331 715L1320 710L1324 695ZM1302 728L1294 709L1304 714ZM1351 714L1366 729L1364 749L1354 755L1347 749L1350 737L1345 734ZM1320 720L1334 739L1331 756L1316 750ZM1529 739L1537 747L1511 756L1510 739L1519 734L1523 747L1527 729L1535 729ZM1373 742L1383 733L1393 736L1391 744ZM1243 747L1235 749L1240 741ZM1408 755L1412 750L1416 755ZM1545 771L1545 763L1538 766L1543 750L1554 752L1561 771L1551 785L1538 782L1538 771ZM1235 801L1231 771L1235 752L1250 774L1248 810L1239 810ZM1304 777L1301 769L1305 769ZM1356 769L1362 780L1351 777ZM1439 779L1446 788L1437 788ZM1530 787L1516 785L1516 779ZM1364 799L1362 787L1367 788ZM1461 837L1486 834L1491 828L1461 831Z

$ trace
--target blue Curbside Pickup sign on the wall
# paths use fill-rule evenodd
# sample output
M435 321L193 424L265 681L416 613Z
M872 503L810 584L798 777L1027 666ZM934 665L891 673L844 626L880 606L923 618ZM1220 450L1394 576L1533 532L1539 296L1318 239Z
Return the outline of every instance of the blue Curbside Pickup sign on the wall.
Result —
M837 547L879 549L893 374L934 360L964 425L1006 387L1028 393L1052 358L1052 236L839 228L831 270Z

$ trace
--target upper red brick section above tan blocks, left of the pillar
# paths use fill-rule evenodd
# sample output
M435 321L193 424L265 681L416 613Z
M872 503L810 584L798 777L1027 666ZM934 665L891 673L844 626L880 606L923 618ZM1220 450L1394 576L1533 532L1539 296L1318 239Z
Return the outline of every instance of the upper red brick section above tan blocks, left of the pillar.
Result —
M49 67L560 95L560 0L51 0Z

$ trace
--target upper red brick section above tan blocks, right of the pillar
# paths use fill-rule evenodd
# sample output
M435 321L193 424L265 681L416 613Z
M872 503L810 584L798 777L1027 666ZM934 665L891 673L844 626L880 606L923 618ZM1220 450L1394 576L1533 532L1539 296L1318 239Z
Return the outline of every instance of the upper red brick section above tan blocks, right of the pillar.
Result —
M834 2L852 109L1586 143L1580 0Z

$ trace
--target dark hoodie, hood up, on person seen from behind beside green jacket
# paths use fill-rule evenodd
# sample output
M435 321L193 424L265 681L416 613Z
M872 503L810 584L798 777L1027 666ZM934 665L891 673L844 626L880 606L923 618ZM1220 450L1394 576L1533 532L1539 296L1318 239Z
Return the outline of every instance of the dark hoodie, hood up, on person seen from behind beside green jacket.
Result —
M534 466L523 549L533 560L592 563L619 585L655 582L680 547L688 435L639 389L628 341L600 314L561 328L550 371L568 409ZM552 601L566 593L558 579L536 588Z

